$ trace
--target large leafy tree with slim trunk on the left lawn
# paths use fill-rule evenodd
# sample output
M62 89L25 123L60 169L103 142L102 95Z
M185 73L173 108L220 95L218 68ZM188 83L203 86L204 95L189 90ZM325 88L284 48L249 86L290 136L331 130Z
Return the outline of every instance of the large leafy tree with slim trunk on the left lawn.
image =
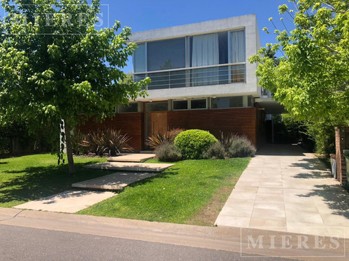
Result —
M146 95L144 86L124 81L134 44L131 29L96 29L100 0L3 0L1 21L0 116L23 119L31 129L64 122L69 172L75 172L70 133L86 118L102 120L116 104Z

